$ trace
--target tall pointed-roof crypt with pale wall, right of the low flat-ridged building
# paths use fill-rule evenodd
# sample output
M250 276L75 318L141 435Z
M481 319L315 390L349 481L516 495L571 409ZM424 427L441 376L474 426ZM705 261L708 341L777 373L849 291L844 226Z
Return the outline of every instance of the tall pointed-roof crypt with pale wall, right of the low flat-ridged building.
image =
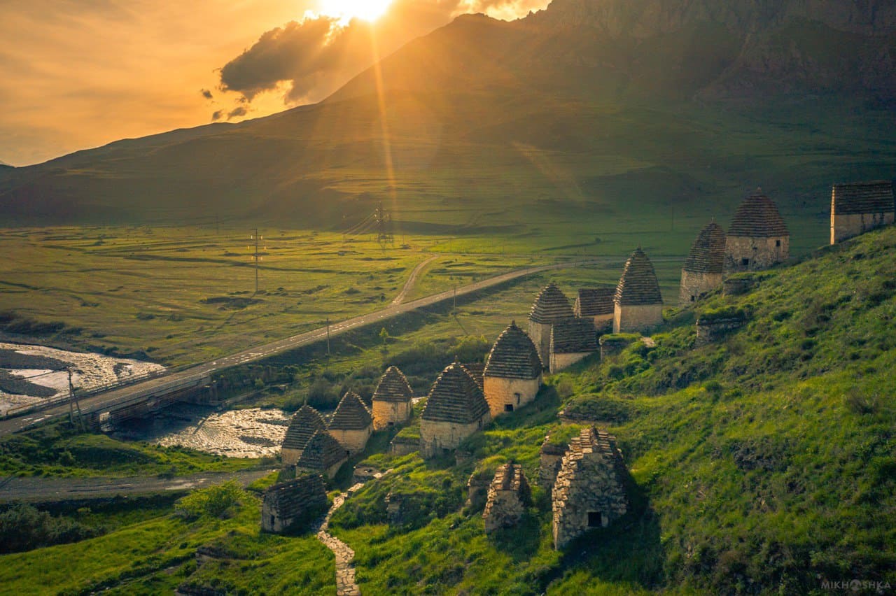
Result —
M663 322L657 274L640 246L625 261L613 301L613 333L646 331Z

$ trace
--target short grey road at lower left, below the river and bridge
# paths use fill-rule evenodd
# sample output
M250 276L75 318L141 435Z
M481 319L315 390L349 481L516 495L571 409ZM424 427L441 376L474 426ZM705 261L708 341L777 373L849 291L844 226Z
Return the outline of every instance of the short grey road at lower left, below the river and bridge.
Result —
M129 478L0 478L0 502L31 501L47 503L79 498L141 495L169 490L194 490L236 479L243 486L276 470L198 473L178 478L155 476Z

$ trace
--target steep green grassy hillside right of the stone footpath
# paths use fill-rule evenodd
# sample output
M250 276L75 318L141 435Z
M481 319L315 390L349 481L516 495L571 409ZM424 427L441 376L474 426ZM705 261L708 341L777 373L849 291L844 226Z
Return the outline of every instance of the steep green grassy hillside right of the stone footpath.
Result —
M478 516L461 513L402 532L377 509L393 487L372 485L334 519L358 553L362 589L796 593L843 577L896 583L894 248L896 230L866 234L763 274L750 294L711 297L699 308L752 312L717 345L693 348L684 311L655 349L556 376L567 405L612 403L628 417L611 430L632 472L633 511L614 527L554 553L537 491L540 507L517 532L487 538ZM439 469L410 456L400 469L431 490L460 490L483 458L513 456L532 478L539 438L556 424L551 392L541 400L547 414L516 413L470 441L478 464ZM353 529L358 514L373 525Z

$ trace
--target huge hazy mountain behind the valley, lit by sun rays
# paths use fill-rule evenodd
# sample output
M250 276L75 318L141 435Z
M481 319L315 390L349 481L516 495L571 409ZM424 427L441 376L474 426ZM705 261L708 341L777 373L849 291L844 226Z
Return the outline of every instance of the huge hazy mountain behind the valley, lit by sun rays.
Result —
M388 200L409 231L530 234L600 231L638 197L696 229L762 184L823 227L832 182L893 175L894 25L875 0L462 16L384 58L382 86L372 68L316 105L0 170L0 214L340 227Z

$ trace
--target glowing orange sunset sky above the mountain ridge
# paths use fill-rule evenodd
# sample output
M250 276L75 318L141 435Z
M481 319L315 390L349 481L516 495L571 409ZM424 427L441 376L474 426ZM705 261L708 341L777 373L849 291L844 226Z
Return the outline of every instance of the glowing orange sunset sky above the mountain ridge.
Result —
M220 89L225 64L241 63L243 78L252 75L257 61L249 58L262 54L263 34L277 38L280 31L285 39L286 31L301 33L307 29L301 23L306 12L319 9L317 0L3 4L0 161L13 166L210 123L215 113L221 121L231 115L231 122L271 114L325 97L368 65L367 57L357 53L336 65L286 64L283 68L295 72L289 75L295 80L276 88L264 83L267 87L258 92ZM547 0L393 0L381 22L386 38L380 45L392 51L458 13L487 12L509 19L545 5ZM289 29L289 21L299 22ZM245 60L235 60L253 48ZM304 57L309 54L305 49L297 47L293 54ZM305 67L318 70L305 77ZM268 78L280 76L277 72ZM203 96L203 89L211 98ZM243 110L246 116L240 115Z

